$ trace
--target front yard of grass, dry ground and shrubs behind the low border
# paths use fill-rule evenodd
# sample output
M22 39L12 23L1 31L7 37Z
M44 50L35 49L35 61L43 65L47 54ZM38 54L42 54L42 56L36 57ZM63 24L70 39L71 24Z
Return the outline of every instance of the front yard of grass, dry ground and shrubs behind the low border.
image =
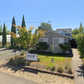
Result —
M19 56L16 55L10 58L9 64L24 66L25 58L26 55L22 52ZM36 68L37 65L40 70L43 69L72 74L71 57L62 54L38 54L37 58L38 62L27 61L27 66ZM53 61L52 58L54 59Z

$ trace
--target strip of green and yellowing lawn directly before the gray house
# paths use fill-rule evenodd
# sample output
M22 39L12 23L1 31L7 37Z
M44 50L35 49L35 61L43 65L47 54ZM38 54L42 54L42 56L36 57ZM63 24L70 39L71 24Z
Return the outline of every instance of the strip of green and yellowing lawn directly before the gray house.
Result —
M53 55L52 54L38 54L38 59L40 59L40 63L51 64L51 59L54 58L54 63L66 63L70 62L70 57L64 57L63 55Z

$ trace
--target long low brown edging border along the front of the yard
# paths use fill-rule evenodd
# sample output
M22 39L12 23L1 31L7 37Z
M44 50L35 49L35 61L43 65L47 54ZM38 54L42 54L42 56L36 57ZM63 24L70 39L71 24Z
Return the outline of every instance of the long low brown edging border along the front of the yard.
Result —
M23 68L24 69L31 69L31 70L35 70L35 71L39 71L39 72L43 72L43 73L54 74L54 75L59 75L59 76L68 77L68 78L74 79L74 75L58 73L58 72L53 72L53 71L51 72L51 71L48 71L48 70L41 70L41 69L33 68L33 67L30 67L30 66L23 66Z

